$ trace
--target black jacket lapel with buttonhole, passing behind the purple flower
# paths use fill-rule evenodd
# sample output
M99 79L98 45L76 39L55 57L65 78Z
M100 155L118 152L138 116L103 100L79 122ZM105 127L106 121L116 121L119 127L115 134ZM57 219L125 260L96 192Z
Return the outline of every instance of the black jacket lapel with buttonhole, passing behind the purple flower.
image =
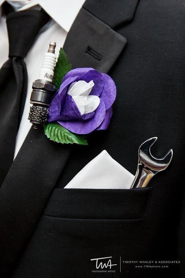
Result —
M125 44L123 36L82 8L64 49L73 68L108 72ZM72 147L50 141L42 127L29 131L0 188L1 277L24 250Z

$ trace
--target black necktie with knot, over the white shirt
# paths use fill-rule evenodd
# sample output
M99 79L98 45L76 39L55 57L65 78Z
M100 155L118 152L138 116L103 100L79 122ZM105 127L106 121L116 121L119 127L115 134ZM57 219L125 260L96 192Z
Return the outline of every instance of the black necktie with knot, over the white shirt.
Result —
M0 69L0 186L13 162L25 104L27 70L23 58L48 19L42 9L11 12L7 16L9 59Z

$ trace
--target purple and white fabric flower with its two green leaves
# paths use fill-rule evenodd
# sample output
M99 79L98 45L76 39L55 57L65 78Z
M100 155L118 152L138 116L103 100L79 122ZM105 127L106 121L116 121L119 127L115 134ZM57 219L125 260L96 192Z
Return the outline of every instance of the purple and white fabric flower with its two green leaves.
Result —
M87 145L85 135L107 129L116 86L112 78L93 68L71 70L61 48L53 75L57 92L49 105L45 135L54 142Z

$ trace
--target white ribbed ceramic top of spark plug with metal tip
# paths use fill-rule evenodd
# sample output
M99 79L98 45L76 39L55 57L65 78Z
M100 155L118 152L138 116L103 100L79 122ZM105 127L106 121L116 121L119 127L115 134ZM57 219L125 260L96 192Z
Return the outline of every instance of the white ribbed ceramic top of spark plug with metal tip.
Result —
M56 55L55 55L55 47L56 43L51 41L49 44L48 52L44 55L44 59L42 62L42 68L40 71L40 80L46 80L52 82L54 67L56 63Z

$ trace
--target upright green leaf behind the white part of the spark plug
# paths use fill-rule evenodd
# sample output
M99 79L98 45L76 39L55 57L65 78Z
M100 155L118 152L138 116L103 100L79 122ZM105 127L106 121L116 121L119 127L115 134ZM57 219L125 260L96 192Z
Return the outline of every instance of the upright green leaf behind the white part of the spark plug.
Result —
M66 53L61 47L53 74L53 84L56 86L57 90L60 88L64 75L70 70L71 64L69 63Z

